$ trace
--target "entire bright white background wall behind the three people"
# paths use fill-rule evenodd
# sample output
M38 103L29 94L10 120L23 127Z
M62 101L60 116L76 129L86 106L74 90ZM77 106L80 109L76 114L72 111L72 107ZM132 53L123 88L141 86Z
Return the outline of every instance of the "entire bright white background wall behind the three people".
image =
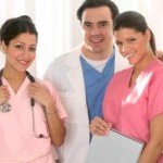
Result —
M12 4L11 4L12 1ZM10 17L28 14L39 33L37 59L30 66L33 74L41 77L49 63L78 45L82 40L76 11L84 0L0 0L0 25ZM113 0L120 11L141 12L153 30L156 45L163 50L163 1ZM4 57L0 52L0 67Z

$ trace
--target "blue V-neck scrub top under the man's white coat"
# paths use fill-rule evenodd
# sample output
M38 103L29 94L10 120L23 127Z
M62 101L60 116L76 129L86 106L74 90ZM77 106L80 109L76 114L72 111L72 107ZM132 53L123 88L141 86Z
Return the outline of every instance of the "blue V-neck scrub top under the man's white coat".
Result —
M86 100L89 122L95 116L102 117L102 101L108 84L114 75L115 50L106 62L102 73L95 70L83 57L80 63L84 72Z

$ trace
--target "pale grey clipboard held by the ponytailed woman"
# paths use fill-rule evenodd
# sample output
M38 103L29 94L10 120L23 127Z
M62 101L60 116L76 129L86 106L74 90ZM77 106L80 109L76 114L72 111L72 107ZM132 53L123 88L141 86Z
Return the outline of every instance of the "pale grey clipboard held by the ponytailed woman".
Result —
M111 129L109 136L92 137L85 163L137 163L143 145Z

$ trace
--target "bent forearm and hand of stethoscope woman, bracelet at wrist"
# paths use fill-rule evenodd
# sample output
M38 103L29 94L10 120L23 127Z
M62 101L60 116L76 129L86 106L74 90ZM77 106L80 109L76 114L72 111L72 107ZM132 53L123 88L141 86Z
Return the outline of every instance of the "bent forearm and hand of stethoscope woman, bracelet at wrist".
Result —
M65 127L62 120L60 120L55 106L55 102L58 100L57 95L54 97L54 95L52 96L49 92L47 87L43 87L39 83L33 83L29 87L29 96L43 108L51 141L55 147L60 147L64 141Z

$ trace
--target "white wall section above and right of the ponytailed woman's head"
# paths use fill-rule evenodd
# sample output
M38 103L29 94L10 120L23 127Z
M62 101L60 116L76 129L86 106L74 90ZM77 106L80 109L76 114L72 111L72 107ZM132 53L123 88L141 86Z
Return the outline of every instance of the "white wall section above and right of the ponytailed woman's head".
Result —
M161 0L113 0L120 12L135 10L143 14L155 36L158 50L163 50L163 1Z

